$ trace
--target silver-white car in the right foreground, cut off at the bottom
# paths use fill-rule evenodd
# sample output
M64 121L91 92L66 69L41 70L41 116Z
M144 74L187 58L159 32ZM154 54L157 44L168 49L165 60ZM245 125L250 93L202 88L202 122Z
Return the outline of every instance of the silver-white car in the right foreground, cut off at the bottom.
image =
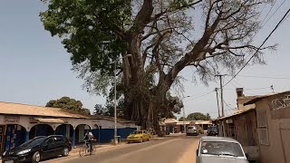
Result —
M202 137L197 149L197 163L248 163L241 144L225 137Z

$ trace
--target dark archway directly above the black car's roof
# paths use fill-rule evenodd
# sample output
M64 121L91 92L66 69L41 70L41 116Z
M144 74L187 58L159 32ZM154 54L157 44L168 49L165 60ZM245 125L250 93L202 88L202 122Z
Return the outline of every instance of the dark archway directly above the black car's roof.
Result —
M29 131L29 139L34 139L38 136L49 136L53 135L53 127L48 124L37 124L32 127Z

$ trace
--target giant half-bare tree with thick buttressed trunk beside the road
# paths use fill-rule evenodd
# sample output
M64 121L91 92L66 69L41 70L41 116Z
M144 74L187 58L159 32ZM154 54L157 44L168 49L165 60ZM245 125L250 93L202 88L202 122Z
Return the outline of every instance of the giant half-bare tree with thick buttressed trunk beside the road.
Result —
M43 2L48 5L40 14L44 28L63 40L84 88L106 94L118 75L127 116L146 128L153 122L159 129L160 117L176 109L168 91L179 86L183 69L191 68L194 77L208 83L220 67L234 72L256 50L252 61L264 63L264 50L275 48L258 49L252 42L260 7L271 0Z

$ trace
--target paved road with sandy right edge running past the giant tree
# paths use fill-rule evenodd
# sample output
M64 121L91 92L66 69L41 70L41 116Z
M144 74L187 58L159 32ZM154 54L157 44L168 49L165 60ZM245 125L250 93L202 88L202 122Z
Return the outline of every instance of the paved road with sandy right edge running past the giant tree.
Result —
M43 163L194 163L198 137L173 137L144 143L100 149L95 155L80 158L54 158Z

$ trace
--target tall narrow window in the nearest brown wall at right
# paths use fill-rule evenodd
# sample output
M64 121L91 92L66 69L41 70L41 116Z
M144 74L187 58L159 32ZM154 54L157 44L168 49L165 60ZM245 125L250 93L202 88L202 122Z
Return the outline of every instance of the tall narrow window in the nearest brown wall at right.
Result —
M260 144L269 145L266 110L256 112L257 134Z

